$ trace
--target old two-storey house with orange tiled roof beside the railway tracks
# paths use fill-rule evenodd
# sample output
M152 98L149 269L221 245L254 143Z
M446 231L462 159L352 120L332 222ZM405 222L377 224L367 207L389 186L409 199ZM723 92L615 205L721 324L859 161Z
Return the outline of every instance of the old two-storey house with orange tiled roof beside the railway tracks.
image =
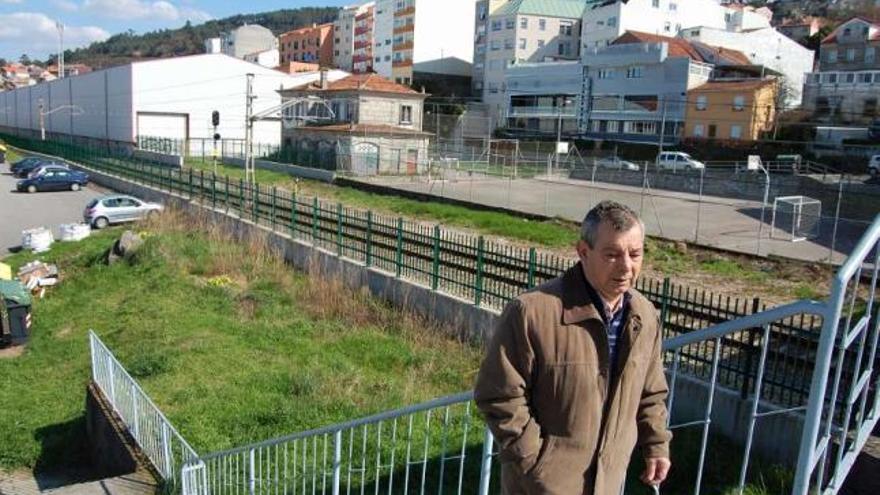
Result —
M283 154L294 163L356 175L413 175L427 166L427 94L378 74L281 91Z

